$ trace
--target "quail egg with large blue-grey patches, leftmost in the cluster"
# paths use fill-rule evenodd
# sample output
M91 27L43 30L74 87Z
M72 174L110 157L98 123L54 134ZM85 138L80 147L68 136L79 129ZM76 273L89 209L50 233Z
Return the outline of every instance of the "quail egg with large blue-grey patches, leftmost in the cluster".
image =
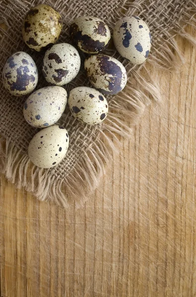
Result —
M2 83L5 89L14 96L31 93L38 82L38 71L32 57L17 51L6 61L2 70Z

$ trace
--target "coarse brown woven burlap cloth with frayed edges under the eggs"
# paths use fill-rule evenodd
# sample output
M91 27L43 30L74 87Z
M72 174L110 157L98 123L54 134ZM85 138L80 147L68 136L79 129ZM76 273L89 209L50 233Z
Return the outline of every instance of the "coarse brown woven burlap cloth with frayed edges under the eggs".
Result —
M128 72L128 84L116 96L106 96L109 115L97 126L84 125L75 120L68 110L60 120L70 136L65 159L51 169L33 166L27 155L29 141L38 131L23 118L23 103L28 97L13 97L0 83L0 171L18 187L25 187L37 198L52 199L67 206L73 198L81 202L86 194L98 186L112 150L118 147L118 135L129 137L131 127L141 115L146 104L160 99L156 81L152 80L148 67L170 69L181 57L174 39L176 34L195 41L185 28L196 21L194 0L51 0L51 1L0 1L0 73L8 56L18 50L28 52L39 70L37 89L47 86L41 73L43 54L32 52L24 44L21 24L31 6L46 3L56 8L63 17L64 27L59 42L70 42L68 28L78 16L96 16L109 25L111 32L118 19L124 15L137 15L147 22L152 35L152 50L148 66L132 66L123 60L115 49L107 53L123 62ZM85 55L81 53L82 61ZM141 69L142 68L142 69ZM76 86L89 85L83 73L83 63L78 76L65 86L67 92ZM6 140L6 141L5 141Z

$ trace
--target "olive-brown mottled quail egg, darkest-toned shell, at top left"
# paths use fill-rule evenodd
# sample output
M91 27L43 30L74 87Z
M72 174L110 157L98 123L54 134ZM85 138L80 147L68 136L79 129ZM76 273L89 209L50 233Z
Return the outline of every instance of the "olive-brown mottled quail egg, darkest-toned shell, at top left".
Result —
M62 17L46 4L32 7L22 25L24 42L30 49L41 51L57 42L62 30Z

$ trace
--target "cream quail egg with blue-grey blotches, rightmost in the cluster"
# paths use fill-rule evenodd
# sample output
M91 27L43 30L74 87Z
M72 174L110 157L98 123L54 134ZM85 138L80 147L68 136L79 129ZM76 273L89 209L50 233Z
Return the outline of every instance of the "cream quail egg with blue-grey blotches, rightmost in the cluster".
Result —
M143 63L151 48L148 26L137 16L119 20L113 32L114 45L118 52L133 64Z

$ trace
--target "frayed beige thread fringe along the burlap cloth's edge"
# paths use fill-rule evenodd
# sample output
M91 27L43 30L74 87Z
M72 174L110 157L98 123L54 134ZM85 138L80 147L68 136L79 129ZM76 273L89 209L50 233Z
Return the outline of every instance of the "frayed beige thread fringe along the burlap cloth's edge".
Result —
M196 40L186 32L187 25L196 28L196 16L189 15L189 21L183 24L180 32L168 33L168 40L164 43L163 51L156 51L151 55L148 65L171 70L183 62L183 55L178 48L175 36L179 34L193 46ZM161 46L161 45L160 45ZM163 47L163 45L162 45ZM141 74L141 68L142 73ZM96 145L84 152L81 160L75 165L65 180L58 176L49 176L48 170L33 166L27 155L15 147L9 140L0 138L0 172L16 187L25 187L40 200L52 199L58 205L67 207L73 199L76 206L81 205L87 193L98 186L101 176L105 172L105 165L112 157L112 152L118 151L119 136L130 137L132 126L143 113L145 106L151 100L159 101L159 87L152 80L146 64L135 70L132 67L131 79L128 80L126 91L122 91L115 99L111 99L110 112L105 120L104 129L99 131ZM129 94L129 95L128 95ZM66 191L64 189L66 188ZM66 193L66 194L65 194Z

